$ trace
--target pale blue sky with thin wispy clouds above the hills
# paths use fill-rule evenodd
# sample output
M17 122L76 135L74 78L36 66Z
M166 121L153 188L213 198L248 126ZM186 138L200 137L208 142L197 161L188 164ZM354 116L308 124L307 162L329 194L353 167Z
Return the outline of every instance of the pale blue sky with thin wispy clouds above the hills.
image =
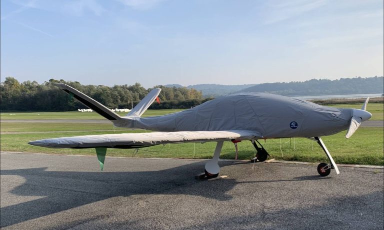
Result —
M383 75L382 0L1 0L0 78L258 84Z

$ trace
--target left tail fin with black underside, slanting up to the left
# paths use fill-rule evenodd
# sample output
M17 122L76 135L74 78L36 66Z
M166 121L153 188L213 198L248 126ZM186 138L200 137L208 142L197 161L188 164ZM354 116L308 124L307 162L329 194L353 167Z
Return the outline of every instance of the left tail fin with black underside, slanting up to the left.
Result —
M117 113L111 111L107 107L103 106L102 104L98 103L87 95L81 93L80 91L70 87L69 85L63 83L54 83L54 85L64 90L67 94L72 95L82 104L89 107L90 109L105 117L106 119L112 122L121 119L121 117Z

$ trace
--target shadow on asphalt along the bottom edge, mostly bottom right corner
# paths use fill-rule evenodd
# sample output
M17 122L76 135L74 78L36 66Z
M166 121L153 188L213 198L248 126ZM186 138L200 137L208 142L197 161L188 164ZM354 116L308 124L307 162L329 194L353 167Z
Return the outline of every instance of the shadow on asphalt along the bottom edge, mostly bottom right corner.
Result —
M305 207L281 208L265 204L260 207L255 206L255 212L252 214L212 217L199 225L188 226L186 224L179 229L382 229L384 218L381 204L382 192L371 192L359 196L329 197L319 205ZM68 221L58 229L71 229L79 225L91 229L92 222L95 220L97 217ZM110 228L110 223L97 222L97 229ZM148 227L146 222L137 220L113 223L115 230L152 228L153 226Z

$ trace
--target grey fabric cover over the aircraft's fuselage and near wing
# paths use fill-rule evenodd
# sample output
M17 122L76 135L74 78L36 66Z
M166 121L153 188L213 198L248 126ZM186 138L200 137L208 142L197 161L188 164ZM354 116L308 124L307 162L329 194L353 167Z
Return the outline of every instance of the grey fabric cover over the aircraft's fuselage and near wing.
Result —
M118 127L159 133L63 137L29 144L50 148L134 148L188 141L320 137L348 129L351 116L350 109L320 106L268 93L245 93L217 98L164 116L130 115L112 121Z

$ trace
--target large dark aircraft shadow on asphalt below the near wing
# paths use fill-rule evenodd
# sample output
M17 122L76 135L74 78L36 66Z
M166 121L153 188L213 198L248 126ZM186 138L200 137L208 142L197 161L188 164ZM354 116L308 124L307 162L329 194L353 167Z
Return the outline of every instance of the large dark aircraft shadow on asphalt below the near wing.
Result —
M142 172L55 172L47 168L1 170L1 175L21 176L26 181L10 191L17 196L40 196L32 201L1 208L0 227L6 227L118 196L146 194L183 194L225 201L239 183L234 179L207 183L193 178L205 162L196 162L160 171ZM238 164L220 162L221 167ZM149 169L150 170L150 169ZM284 181L317 180L317 176ZM212 189L214 187L214 189Z

